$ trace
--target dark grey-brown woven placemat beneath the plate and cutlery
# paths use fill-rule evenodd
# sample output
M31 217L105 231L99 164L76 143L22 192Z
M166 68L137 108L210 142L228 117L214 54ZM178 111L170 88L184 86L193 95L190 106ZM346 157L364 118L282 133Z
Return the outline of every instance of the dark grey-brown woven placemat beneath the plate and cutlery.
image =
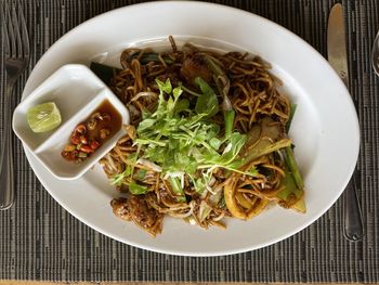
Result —
M31 36L32 57L28 70L15 90L14 104L19 100L22 88L36 62L62 35L100 13L138 1L19 2ZM292 30L326 55L326 26L332 0L215 2L267 17ZM95 232L65 211L36 179L21 143L14 139L17 196L10 210L0 212L0 278L379 282L379 80L369 64L370 47L379 28L379 1L345 0L342 3L348 21L351 92L362 128L358 196L366 226L363 242L349 243L343 238L343 217L339 199L308 229L286 241L256 251L226 257L188 258L138 249ZM5 80L2 67L3 49L0 61L2 98ZM2 104L1 109L3 107L5 106ZM0 120L2 121L1 116Z

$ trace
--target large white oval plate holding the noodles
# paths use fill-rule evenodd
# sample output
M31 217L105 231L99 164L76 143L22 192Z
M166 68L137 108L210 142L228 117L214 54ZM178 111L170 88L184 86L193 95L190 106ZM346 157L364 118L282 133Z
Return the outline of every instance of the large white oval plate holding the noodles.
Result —
M305 179L308 212L274 207L245 222L227 219L227 229L208 231L166 219L153 238L116 218L109 202L117 196L97 166L76 181L60 181L30 153L27 158L49 193L89 226L122 243L154 251L218 256L274 244L319 218L337 200L353 172L360 146L356 112L337 74L312 47L287 29L237 9L201 2L151 2L94 17L55 42L32 70L23 96L68 63L93 59L117 63L125 47L165 46L167 36L219 49L244 49L273 65L286 92L298 104L290 135ZM342 233L341 233L342 234Z

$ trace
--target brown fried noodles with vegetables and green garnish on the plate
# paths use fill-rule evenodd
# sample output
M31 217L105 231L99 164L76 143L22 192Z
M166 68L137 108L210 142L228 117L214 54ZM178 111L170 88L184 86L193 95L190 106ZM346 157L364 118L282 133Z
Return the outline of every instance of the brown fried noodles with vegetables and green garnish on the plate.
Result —
M125 50L120 69L91 65L130 112L100 161L120 192L114 213L155 236L166 216L208 229L274 204L305 212L287 134L296 105L270 65L169 40L161 53Z

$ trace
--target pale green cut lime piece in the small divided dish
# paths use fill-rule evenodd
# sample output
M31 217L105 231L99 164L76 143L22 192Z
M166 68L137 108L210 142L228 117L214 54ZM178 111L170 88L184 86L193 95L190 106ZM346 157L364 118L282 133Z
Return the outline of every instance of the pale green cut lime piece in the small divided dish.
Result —
M51 131L62 121L60 109L53 102L30 107L26 113L26 118L34 132Z

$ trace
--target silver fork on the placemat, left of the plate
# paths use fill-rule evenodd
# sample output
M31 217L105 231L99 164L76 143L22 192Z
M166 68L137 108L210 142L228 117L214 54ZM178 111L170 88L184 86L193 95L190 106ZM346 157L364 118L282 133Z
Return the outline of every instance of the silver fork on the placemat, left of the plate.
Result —
M12 5L2 4L2 38L6 86L4 94L3 140L0 148L0 210L10 208L14 200L13 145L12 145L12 93L21 74L29 63L30 47L23 11ZM17 10L17 11L16 11Z

